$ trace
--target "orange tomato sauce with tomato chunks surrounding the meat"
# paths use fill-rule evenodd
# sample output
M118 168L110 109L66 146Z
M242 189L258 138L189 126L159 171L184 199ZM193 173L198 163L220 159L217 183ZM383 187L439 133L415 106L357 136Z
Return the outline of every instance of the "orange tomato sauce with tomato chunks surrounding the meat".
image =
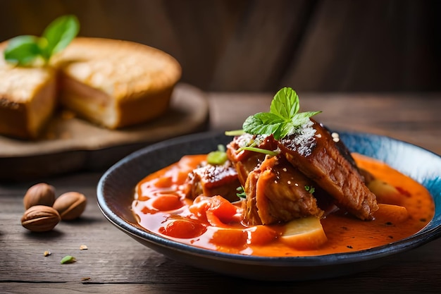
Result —
M241 255L311 256L354 252L394 243L420 231L433 218L430 193L415 180L387 164L353 154L356 164L399 191L397 206L381 205L373 221L361 221L341 211L321 219L327 237L320 247L301 250L281 242L285 226L244 226L241 208L223 197L185 198L182 184L206 155L189 155L141 180L132 211L139 224L158 235L197 247ZM239 198L238 198L239 200Z

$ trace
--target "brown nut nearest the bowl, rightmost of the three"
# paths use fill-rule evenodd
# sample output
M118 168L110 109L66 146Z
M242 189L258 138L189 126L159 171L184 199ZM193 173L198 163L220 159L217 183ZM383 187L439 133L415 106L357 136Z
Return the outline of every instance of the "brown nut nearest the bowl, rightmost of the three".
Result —
M66 192L54 202L54 209L58 211L63 221L70 221L80 217L85 211L87 198L79 192Z

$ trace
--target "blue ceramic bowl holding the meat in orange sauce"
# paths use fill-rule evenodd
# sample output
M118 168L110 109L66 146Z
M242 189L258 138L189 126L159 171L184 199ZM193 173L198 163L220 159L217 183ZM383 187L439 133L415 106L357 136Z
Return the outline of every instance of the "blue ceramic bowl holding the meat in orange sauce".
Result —
M312 257L232 255L168 240L138 225L130 209L135 185L149 173L178 161L185 154L216 150L231 137L198 133L166 140L130 154L99 180L98 204L104 216L139 243L171 259L220 274L267 281L301 281L354 274L387 262L388 257L424 245L441 235L441 157L390 137L339 132L352 152L384 161L426 186L435 200L435 217L423 230L389 245L357 252Z

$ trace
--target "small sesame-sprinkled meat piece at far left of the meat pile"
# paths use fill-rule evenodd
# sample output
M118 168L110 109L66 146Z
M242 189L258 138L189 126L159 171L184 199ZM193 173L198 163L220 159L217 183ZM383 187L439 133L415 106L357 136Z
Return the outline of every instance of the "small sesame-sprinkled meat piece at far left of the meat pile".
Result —
M229 161L224 165L206 164L191 171L185 180L185 197L194 200L199 195L221 195L230 202L239 200L240 182L237 171Z

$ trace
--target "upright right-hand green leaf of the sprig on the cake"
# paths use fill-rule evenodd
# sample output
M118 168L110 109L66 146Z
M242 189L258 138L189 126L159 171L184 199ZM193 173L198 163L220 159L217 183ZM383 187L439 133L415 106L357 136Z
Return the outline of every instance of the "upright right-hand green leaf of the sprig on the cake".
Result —
M45 59L49 60L52 55L65 49L76 37L79 30L80 23L76 16L61 16L52 21L42 35L46 39Z

